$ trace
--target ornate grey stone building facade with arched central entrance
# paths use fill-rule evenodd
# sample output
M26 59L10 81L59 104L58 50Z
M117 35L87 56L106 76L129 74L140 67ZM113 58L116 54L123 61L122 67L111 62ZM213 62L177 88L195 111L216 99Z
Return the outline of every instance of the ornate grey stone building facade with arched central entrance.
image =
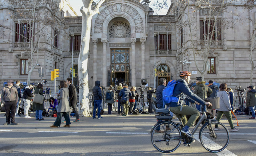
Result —
M174 3L174 0L172 2ZM238 21L236 27L222 32L222 38L214 43L220 46L209 55L209 58L212 58L211 64L214 64L214 73L206 72L205 81L225 82L232 88L235 85L247 87L250 80L250 33L253 30L252 23L255 22L256 9L238 4L230 5L228 8L244 18L251 17L252 21ZM60 11L65 13L65 10L60 9ZM177 26L182 17L171 13L153 15L153 12L148 3L140 3L139 0L108 0L101 5L99 14L94 15L92 19L91 37L88 38L90 40L88 77L91 87L96 80L101 81L102 86L114 84L115 77L118 79L121 77L129 86L141 86L141 79L147 79L149 86L154 86L155 66L156 80L161 77L165 77L167 81L176 80L181 70L197 71L191 57L189 38L181 36L180 28ZM203 13L195 13L198 14L198 21L204 19ZM3 15L0 16L1 22L8 26L14 25L15 21L6 22L4 18L8 14L8 6L0 8L0 14ZM47 80L49 86L54 86L53 81L50 81L50 71L54 68L60 69L60 77L57 81L66 80L70 76L73 49L75 69L73 82L74 85L78 85L77 64L82 17L63 18L67 27L63 30L63 34L66 35L59 37L60 46L57 48L49 45L48 48L40 51L41 66L34 69L31 82L40 82L41 77L38 76L37 71L40 67L46 69L43 80ZM183 31L187 31L186 28ZM14 39L14 34L11 32L10 34L8 37ZM71 34L74 37L71 37ZM20 62L25 59L24 54L21 49L15 47L16 43L4 42L5 37L0 38L0 84L8 79L26 82L26 75L20 74ZM197 38L195 40L200 41ZM256 57L255 50L254 57ZM184 60L192 63L185 63ZM211 72L210 65L209 71ZM192 80L196 76L200 76L198 71L192 76ZM158 82L156 84L158 85Z

